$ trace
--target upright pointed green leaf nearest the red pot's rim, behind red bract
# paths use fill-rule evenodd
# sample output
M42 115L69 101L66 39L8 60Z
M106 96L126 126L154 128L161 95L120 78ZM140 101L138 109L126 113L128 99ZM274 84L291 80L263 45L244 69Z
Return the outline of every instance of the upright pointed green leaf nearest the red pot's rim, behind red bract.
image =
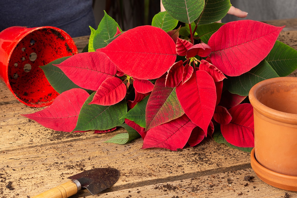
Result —
M116 27L118 27L121 31L119 24L116 23L116 21L104 11L104 17L102 18L97 30L94 33L94 50L105 47L107 45L105 41L113 38L117 31Z

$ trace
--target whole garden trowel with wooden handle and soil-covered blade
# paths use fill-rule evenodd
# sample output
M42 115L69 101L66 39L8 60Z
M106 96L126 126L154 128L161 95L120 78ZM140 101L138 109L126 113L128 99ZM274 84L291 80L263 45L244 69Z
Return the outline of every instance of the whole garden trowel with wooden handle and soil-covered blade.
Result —
M119 170L114 168L94 168L86 170L69 177L68 179L71 179L70 181L36 195L33 198L66 198L76 194L80 191L81 187L85 187L94 195L116 183L119 176Z

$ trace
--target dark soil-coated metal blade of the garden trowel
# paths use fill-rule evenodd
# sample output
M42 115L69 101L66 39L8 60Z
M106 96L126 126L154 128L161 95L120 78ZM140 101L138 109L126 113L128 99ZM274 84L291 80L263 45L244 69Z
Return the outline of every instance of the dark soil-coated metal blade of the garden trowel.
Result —
M72 175L68 179L78 180L82 187L94 195L115 184L119 176L120 172L115 168L94 168Z

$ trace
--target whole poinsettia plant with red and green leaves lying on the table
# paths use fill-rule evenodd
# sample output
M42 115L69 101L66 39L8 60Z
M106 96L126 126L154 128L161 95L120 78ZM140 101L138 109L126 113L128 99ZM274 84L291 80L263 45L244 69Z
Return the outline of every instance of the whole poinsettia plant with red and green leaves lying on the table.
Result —
M105 13L91 28L86 52L41 66L60 95L24 116L65 132L104 133L121 126L127 133L107 142L141 136L142 148L177 150L212 136L250 151L249 90L297 68L296 50L276 41L283 27L253 20L216 23L230 0L162 2L166 11L151 26L125 32Z

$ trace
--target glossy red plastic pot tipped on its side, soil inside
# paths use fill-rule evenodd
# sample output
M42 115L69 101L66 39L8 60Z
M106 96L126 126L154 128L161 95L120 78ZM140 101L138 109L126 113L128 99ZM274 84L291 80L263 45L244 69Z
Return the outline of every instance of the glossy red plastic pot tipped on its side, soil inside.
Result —
M77 53L73 39L59 28L7 28L0 32L0 79L20 102L47 106L59 94L39 66Z

